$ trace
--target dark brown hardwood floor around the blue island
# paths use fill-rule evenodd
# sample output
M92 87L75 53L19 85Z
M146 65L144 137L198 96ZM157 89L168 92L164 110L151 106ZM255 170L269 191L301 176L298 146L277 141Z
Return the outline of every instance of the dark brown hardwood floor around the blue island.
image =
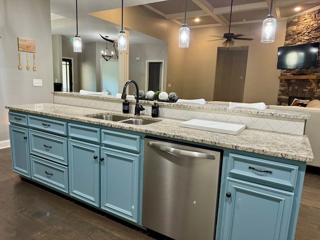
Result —
M10 148L4 148L0 149L0 240L10 239L169 238L20 178L11 170ZM320 175L306 173L294 239L320 239Z

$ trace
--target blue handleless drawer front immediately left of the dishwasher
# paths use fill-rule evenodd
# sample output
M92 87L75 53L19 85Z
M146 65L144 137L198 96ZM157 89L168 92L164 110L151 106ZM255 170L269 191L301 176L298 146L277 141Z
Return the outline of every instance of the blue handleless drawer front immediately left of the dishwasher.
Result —
M139 152L141 149L140 136L123 132L102 129L101 142L103 145L133 152Z

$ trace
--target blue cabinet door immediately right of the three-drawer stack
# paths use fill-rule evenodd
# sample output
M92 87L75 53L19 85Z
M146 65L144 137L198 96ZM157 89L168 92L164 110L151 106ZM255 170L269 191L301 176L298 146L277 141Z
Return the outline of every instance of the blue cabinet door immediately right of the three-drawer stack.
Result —
M99 146L68 139L69 193L91 205L100 206Z

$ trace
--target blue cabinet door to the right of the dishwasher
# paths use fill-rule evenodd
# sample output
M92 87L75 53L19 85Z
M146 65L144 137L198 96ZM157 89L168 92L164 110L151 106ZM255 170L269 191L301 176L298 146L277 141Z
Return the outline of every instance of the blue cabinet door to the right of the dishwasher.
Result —
M223 240L287 239L293 192L227 177ZM219 234L217 234L219 235Z

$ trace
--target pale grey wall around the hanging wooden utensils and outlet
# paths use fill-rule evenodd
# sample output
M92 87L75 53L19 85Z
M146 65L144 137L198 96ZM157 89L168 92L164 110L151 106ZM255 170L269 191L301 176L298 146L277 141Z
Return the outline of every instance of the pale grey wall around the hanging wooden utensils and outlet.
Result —
M9 139L5 105L53 102L52 41L49 0L0 0L0 141ZM21 52L18 69L17 37L35 40L36 71L29 53ZM42 86L32 79L41 78Z

